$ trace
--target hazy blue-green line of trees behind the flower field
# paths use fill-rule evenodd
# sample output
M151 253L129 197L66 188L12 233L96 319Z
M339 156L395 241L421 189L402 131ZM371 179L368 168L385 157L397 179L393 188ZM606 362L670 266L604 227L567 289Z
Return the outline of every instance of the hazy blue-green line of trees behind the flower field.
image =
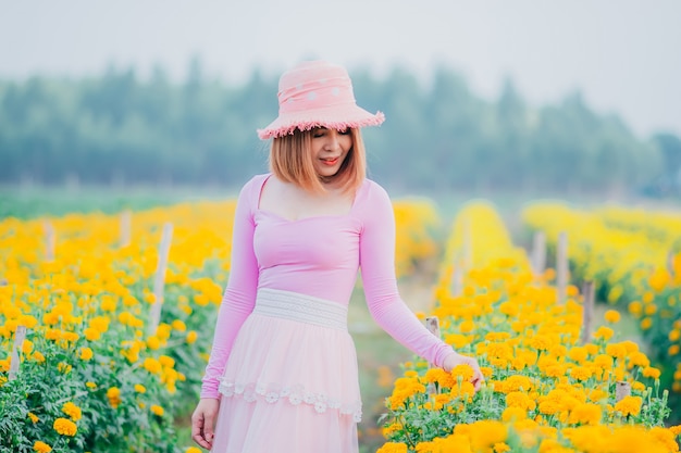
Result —
M678 159L666 149L678 137L636 137L579 91L535 106L507 79L485 100L444 66L428 83L401 66L383 77L359 68L352 80L360 105L386 114L364 140L370 176L395 189L633 189ZM161 67L144 79L110 67L0 80L0 184L238 187L267 169L269 143L256 129L276 116L276 89L259 68L226 84L196 61L182 81Z

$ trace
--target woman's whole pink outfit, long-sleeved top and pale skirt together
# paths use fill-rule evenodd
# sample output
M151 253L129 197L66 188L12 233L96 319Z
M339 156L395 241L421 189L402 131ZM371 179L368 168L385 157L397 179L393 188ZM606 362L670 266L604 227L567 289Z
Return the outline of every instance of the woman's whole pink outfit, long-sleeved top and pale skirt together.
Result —
M347 307L361 269L376 323L441 365L453 349L399 297L395 219L367 179L350 212L288 221L259 209L267 175L239 194L232 272L201 398L220 398L214 453L357 453L361 418Z

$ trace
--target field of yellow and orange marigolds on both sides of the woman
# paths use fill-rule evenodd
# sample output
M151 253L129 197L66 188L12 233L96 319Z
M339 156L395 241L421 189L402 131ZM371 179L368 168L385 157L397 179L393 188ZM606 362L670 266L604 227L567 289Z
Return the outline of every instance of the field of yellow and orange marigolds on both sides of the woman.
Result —
M470 368L406 361L372 420L383 433L373 451L679 451L681 215L528 204L523 232L543 231L549 259L558 235L569 238L558 302L554 266L532 268L493 204L470 202L451 225L426 199L394 207L398 276L439 263L433 304L419 315L475 355L486 381L474 392ZM234 209L0 221L0 452L201 451L177 433L210 352ZM586 280L607 307L584 341ZM619 337L622 317L640 343Z

